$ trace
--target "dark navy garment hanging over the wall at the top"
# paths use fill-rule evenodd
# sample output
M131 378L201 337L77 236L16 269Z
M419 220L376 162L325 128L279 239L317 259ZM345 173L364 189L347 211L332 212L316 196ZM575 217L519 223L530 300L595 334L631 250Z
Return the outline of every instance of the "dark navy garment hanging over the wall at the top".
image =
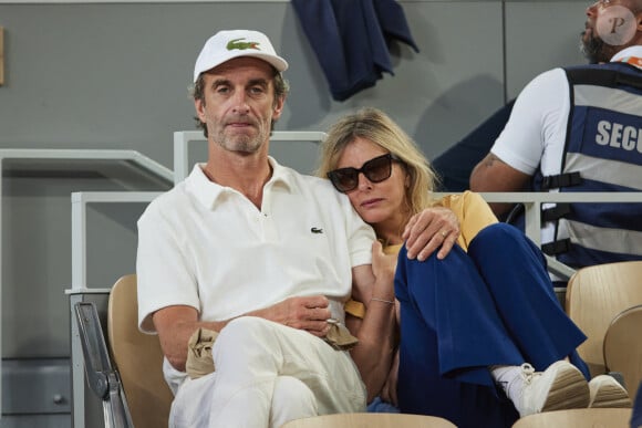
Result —
M387 43L416 44L394 0L292 0L332 97L344 101L393 74Z

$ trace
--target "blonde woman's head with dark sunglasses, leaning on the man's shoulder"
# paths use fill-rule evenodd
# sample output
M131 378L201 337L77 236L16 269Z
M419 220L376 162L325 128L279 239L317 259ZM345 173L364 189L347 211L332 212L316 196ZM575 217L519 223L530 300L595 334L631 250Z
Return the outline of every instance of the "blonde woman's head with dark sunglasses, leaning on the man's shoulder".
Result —
M384 229L401 234L407 219L429 206L436 179L415 142L376 108L331 126L317 174L348 195L380 238L389 238Z

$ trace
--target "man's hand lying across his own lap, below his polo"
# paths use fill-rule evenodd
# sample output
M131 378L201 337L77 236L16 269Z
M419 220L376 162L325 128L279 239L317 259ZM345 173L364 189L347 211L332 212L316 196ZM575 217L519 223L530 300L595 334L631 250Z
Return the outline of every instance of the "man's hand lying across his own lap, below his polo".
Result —
M289 297L265 310L248 315L261 316L292 328L306 330L314 336L325 337L330 331L328 297L313 295Z

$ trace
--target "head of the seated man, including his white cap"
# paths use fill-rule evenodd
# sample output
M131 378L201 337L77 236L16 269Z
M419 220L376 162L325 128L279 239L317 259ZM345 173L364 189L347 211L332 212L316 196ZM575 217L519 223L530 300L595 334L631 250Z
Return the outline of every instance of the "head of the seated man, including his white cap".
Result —
M219 31L207 40L194 66L197 127L206 137L219 134L213 136L221 143L226 124L245 123L258 126L263 138L262 119L267 118L269 137L289 91L281 74L287 69L265 34Z

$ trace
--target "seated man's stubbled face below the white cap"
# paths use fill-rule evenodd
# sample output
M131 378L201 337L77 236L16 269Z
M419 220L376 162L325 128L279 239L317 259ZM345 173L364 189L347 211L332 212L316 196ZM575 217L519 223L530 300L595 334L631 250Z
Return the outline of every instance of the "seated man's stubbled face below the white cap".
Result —
M242 56L204 75L204 101L195 100L195 107L214 143L245 154L266 145L283 107L283 100L275 101L273 73L267 62Z

